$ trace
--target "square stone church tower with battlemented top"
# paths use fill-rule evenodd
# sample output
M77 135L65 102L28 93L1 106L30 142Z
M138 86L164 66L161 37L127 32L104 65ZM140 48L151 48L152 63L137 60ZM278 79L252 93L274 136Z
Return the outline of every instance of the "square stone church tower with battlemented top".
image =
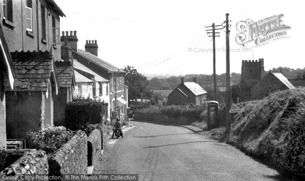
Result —
M259 61L242 61L239 100L242 102L251 100L251 88L265 75L263 58L259 58Z

